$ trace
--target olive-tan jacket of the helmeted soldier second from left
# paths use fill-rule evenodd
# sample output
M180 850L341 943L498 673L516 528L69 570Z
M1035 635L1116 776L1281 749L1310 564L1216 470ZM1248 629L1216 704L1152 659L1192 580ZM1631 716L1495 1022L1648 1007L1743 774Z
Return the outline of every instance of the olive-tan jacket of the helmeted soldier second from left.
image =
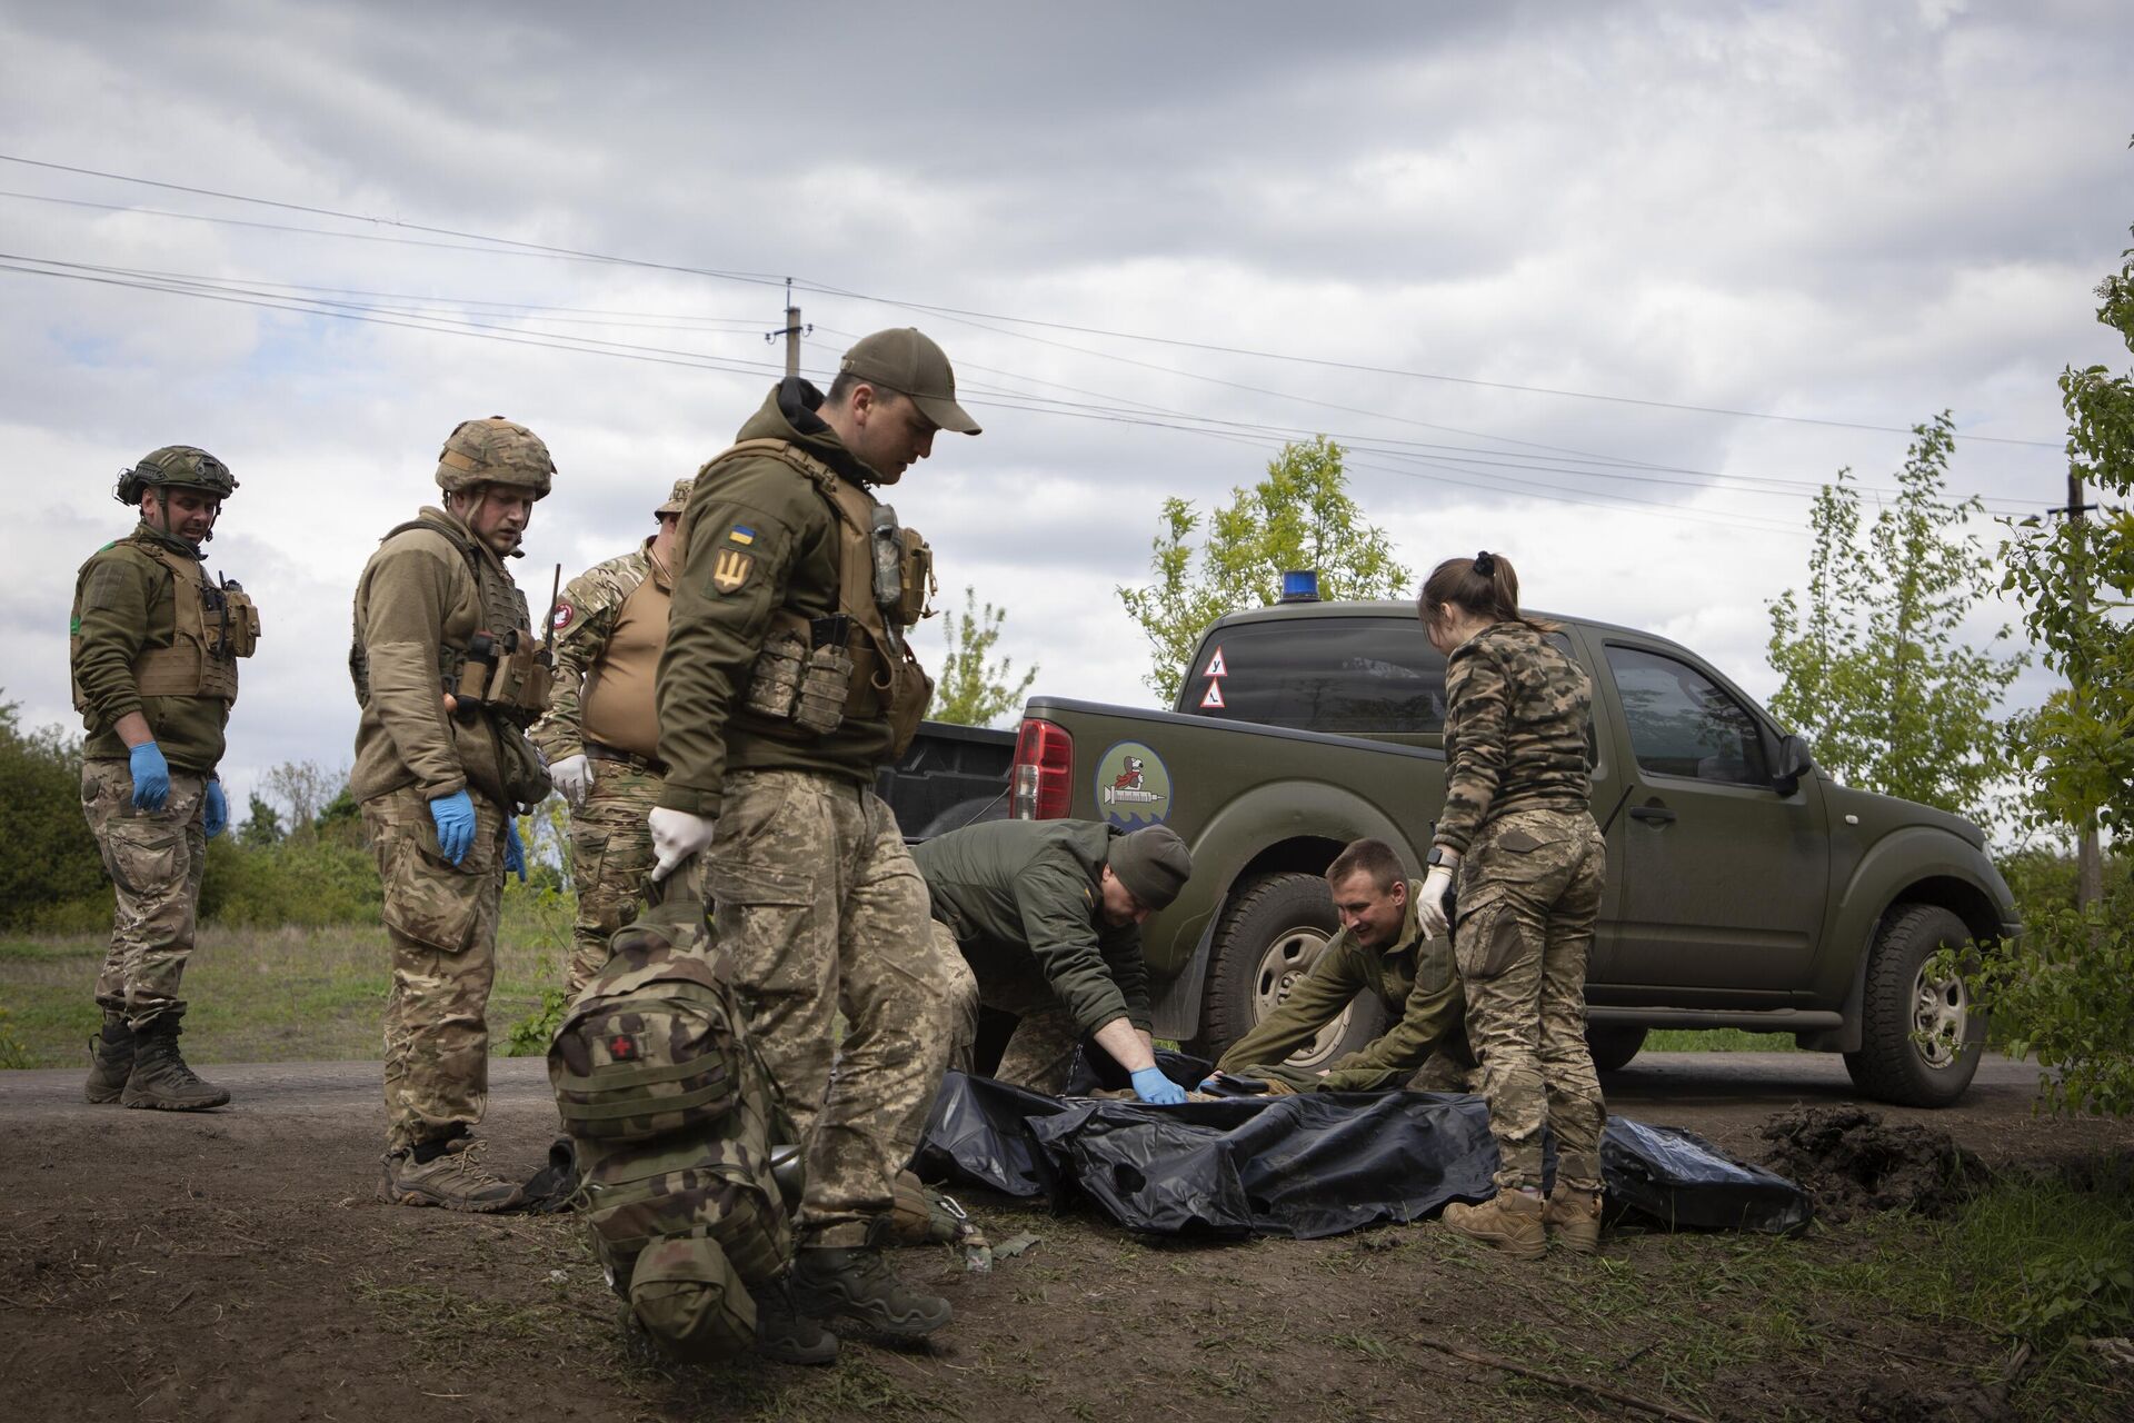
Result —
M425 508L423 518L465 529L446 510ZM487 544L476 540L476 550L510 580ZM501 738L521 736L519 728L444 710L442 649L467 646L487 621L467 555L452 540L401 529L378 546L356 580L354 640L369 663L369 700L356 721L350 796L373 800L416 785L427 800L465 789L510 804Z

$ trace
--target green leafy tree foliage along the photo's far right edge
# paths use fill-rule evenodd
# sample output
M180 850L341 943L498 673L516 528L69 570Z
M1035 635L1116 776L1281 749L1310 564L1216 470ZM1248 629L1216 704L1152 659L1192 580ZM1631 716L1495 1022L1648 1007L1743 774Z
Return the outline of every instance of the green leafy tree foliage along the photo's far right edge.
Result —
M2134 230L2134 228L2130 228ZM2134 247L2098 286L2098 320L2134 352ZM2070 469L2100 508L2057 525L2025 518L2002 544L2004 589L2044 666L2068 678L2014 728L2029 772L2029 824L2134 832L2134 371L2059 375ZM2119 503L2111 503L2113 499ZM2047 1067L2044 1101L2066 1112L2134 1114L2134 888L2032 917L1972 979L2010 1050Z

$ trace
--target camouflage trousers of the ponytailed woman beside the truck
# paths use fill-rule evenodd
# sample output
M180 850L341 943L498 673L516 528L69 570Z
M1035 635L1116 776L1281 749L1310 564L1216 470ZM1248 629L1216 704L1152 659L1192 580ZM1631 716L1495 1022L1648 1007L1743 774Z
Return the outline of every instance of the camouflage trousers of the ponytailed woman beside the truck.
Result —
M1502 815L1460 862L1453 958L1498 1190L1541 1186L1543 1126L1556 1137L1556 1180L1600 1190L1607 1105L1586 1048L1586 962L1605 879L1607 847L1583 811Z

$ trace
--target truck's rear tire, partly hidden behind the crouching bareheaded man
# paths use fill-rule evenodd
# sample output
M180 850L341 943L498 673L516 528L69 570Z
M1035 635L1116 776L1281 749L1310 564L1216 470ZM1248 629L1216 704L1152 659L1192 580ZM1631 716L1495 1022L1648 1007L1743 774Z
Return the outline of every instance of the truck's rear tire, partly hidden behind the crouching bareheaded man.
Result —
M1319 875L1259 875L1238 885L1208 945L1208 996L1195 1052L1216 1058L1289 996L1340 932L1334 898ZM1317 1069L1385 1033L1385 1009L1357 994L1319 1039L1293 1052Z

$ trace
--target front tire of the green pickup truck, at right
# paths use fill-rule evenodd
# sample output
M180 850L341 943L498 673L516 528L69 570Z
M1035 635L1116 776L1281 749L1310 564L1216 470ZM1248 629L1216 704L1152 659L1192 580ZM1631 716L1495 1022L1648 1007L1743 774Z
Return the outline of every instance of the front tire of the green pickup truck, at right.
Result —
M1970 939L1963 920L1936 905L1897 905L1882 920L1867 952L1861 1050L1846 1054L1852 1086L1899 1107L1946 1107L1972 1086L1987 1016L1961 979L1925 973L1936 952Z

